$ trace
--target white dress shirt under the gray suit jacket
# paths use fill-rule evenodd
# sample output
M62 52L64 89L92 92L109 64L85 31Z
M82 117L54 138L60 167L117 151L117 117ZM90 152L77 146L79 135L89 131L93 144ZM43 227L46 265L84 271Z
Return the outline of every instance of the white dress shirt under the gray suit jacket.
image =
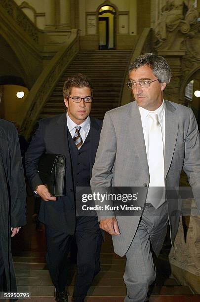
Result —
M142 129L144 134L144 140L145 140L145 147L147 152L147 158L148 158L148 150L149 150L149 130L151 127L151 120L148 116L150 112L155 112L159 115L159 122L162 129L162 139L163 139L163 149L164 149L164 143L165 143L165 113L164 113L164 100L162 101L162 105L155 111L149 111L142 107L139 107L140 116L142 120Z

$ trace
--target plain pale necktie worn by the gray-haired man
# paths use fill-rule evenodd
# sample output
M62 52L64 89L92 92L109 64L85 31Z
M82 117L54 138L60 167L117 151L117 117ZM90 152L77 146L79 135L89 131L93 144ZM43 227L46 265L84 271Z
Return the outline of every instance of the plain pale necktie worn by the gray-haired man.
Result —
M148 148L150 188L146 202L150 202L155 208L158 208L165 202L163 139L158 114L149 113L149 118L151 119Z

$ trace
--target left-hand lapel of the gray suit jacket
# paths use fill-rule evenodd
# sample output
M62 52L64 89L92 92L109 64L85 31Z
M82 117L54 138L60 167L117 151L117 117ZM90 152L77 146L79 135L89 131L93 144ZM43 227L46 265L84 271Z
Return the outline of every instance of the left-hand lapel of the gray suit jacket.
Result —
M132 145L132 150L136 151L142 167L144 168L145 172L149 175L142 121L139 108L136 102L132 103L132 110L130 111L129 119L126 122L128 125L127 144Z

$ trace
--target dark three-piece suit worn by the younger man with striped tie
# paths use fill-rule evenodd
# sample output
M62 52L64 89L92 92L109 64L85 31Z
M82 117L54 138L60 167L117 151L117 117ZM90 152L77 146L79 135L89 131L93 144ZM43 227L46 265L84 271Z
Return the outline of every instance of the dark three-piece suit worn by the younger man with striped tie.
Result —
M90 117L90 130L80 150L67 127L66 113L40 120L39 128L26 153L26 171L32 189L42 184L38 162L43 153L63 154L66 158L66 180L63 197L56 201L41 200L39 220L45 224L46 260L56 290L67 283L66 258L72 235L78 246L76 301L82 301L100 270L102 235L96 217L76 217L76 187L90 185L92 167L99 144L102 122ZM79 200L77 202L80 202Z

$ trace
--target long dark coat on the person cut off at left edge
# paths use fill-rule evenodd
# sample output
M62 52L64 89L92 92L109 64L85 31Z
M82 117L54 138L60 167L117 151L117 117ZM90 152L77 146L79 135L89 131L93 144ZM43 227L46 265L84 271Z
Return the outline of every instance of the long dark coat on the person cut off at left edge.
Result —
M10 228L26 225L26 186L15 126L0 119L0 245L7 291L16 291Z

